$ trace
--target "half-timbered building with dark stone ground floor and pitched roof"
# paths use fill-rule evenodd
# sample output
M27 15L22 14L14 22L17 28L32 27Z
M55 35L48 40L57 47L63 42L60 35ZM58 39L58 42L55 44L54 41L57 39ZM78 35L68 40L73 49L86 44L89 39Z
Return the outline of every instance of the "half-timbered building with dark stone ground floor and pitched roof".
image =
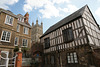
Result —
M41 43L44 67L99 67L93 51L100 47L100 28L87 5L51 26Z

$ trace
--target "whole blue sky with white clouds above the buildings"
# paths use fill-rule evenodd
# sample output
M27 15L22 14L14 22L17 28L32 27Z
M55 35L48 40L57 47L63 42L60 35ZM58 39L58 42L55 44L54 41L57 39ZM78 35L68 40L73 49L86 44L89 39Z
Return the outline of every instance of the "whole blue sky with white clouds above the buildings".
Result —
M43 32L86 4L100 25L100 0L0 0L0 8L15 15L28 12L30 25L43 22Z

